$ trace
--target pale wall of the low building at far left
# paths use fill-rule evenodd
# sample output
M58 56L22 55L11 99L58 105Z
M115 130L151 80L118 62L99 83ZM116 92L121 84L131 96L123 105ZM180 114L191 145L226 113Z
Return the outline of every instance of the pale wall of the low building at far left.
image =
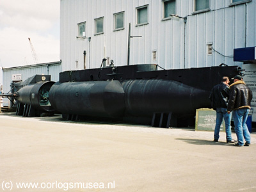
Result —
M42 63L36 65L26 65L21 67L3 68L3 93L8 93L11 89L13 74L22 74L22 81L28 77L35 76L36 74L51 75L51 81L59 81L59 74L61 72L61 61L52 63ZM9 106L9 100L3 99L4 106Z

